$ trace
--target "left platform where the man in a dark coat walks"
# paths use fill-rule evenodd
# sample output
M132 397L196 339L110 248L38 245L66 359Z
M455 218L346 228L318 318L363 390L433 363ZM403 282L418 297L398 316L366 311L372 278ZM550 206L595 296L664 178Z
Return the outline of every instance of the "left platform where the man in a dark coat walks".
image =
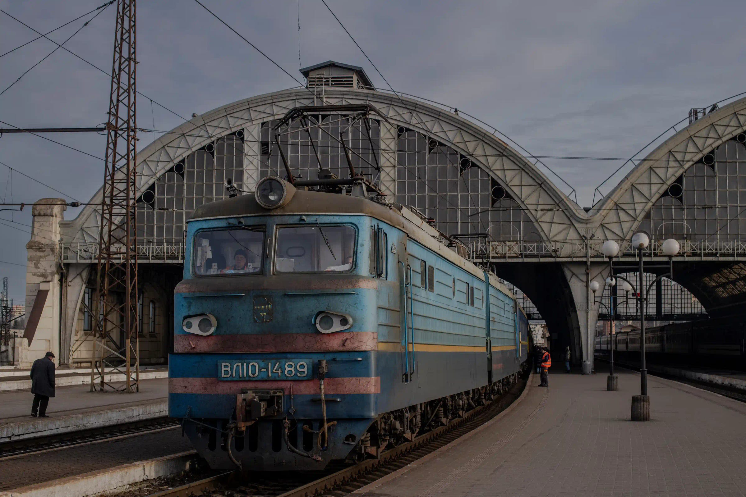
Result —
M0 392L0 442L116 425L168 415L169 380L140 381L140 392L90 392L88 384L57 387L48 418L31 417L31 390Z

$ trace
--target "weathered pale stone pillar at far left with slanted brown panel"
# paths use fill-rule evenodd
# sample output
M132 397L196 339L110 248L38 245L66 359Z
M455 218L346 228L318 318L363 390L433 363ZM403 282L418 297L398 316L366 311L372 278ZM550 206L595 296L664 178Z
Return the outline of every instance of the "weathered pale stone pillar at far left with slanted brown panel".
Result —
M23 364L19 361L21 367L28 366L48 351L60 357L60 221L67 209L65 204L61 198L43 198L37 200L31 209L34 220L31 240L26 244L27 325L20 355Z

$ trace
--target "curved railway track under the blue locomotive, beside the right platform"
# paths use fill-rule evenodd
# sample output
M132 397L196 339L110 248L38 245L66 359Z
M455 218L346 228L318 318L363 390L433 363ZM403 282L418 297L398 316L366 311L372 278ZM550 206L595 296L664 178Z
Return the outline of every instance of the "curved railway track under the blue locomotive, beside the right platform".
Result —
M357 464L330 464L323 472L225 472L148 497L342 497L407 466L451 443L500 414L518 399L529 377L520 377L507 393L489 405L469 411L463 418L389 449L377 459Z

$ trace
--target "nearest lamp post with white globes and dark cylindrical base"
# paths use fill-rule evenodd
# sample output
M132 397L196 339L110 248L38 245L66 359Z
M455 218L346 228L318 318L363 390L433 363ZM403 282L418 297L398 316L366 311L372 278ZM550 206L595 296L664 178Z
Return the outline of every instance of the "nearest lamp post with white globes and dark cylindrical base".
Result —
M680 249L679 242L674 240L673 238L668 238L667 240L663 241L661 251L664 256L668 257L668 265L651 265L650 268L665 268L668 269L668 273L657 276L656 279L651 282L648 288L645 288L645 268L643 266L642 253L648 247L648 244L650 244L650 238L648 238L648 235L646 235L645 233L637 232L633 235L632 246L637 251L638 259L636 269L639 271L639 285L637 286L639 291L636 291L636 294L638 297L640 315L640 395L635 395L632 397L631 419L633 421L649 421L651 419L650 397L648 396L648 370L645 366L645 303L647 303L648 301L648 293L650 293L650 290L651 288L653 288L655 282L657 282L664 276L668 276L669 278L673 279L674 256L679 253ZM633 268L635 267L620 266L614 268L612 266L612 274L614 270L629 270ZM630 286L630 289L635 289L634 285L632 285L632 283L626 278L622 276L618 276L618 278L623 280L624 282L627 282L627 284ZM626 291L626 285L624 286L624 289Z

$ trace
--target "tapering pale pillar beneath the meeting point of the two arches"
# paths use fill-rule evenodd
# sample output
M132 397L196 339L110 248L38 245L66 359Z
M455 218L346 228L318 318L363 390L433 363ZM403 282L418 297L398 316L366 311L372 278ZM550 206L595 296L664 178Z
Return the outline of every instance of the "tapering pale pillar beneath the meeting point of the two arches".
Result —
M586 267L585 262L563 262L562 270L565 272L577 312L577 326L580 328L583 349L583 374L590 374L594 370L595 329L600 307L595 303L590 282L598 281L601 285L598 292L598 297L601 297L606 276L609 274L609 265L592 263Z

